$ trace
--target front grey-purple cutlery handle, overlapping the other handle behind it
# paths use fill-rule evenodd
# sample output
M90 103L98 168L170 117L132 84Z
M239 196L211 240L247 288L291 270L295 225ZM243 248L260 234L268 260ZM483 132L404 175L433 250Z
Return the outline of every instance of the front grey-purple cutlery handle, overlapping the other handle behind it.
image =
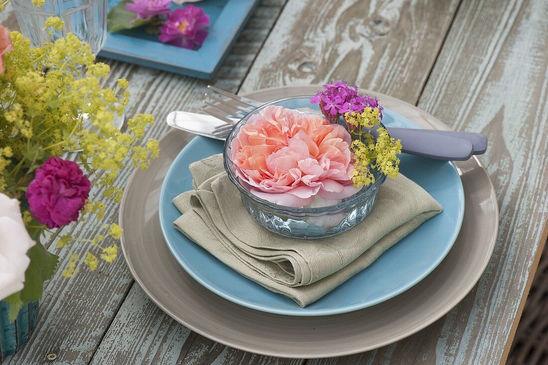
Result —
M402 152L436 160L465 161L472 156L468 139L447 133L424 133L424 130L387 128L390 136L401 139Z

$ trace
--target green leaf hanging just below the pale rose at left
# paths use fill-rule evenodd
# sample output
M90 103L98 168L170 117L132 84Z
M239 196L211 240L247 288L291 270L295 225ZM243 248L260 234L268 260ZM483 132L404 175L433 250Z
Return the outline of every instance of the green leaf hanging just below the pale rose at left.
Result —
M42 298L44 282L52 278L59 262L59 257L48 252L39 242L27 251L27 256L31 263L25 271L25 287L20 291L23 304Z

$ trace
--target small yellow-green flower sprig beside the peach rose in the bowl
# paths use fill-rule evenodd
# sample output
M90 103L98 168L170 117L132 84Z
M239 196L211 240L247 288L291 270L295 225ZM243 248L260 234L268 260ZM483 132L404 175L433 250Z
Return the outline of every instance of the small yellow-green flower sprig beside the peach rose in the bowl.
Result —
M354 152L354 170L351 177L354 186L373 184L373 170L381 171L388 177L397 177L397 155L402 152L402 144L399 139L396 141L390 137L386 128L380 126L380 110L367 106L361 113L347 112L345 120L353 139L351 147ZM379 126L376 129L376 138L371 133L375 126Z

